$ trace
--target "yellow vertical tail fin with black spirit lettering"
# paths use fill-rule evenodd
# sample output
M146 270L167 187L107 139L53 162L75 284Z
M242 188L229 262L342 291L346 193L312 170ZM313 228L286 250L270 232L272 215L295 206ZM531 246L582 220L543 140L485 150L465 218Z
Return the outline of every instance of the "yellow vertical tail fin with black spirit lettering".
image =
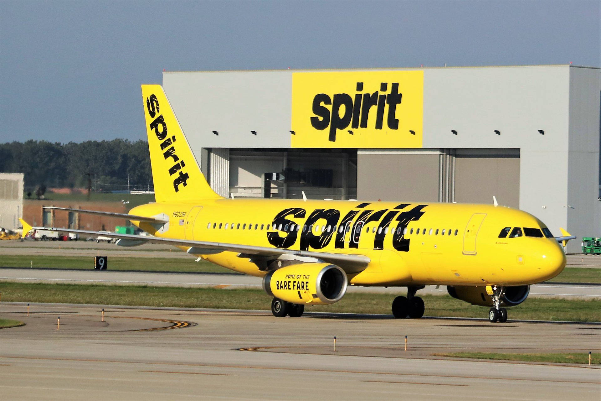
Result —
M213 192L188 144L165 91L142 85L148 148L157 202L221 198Z

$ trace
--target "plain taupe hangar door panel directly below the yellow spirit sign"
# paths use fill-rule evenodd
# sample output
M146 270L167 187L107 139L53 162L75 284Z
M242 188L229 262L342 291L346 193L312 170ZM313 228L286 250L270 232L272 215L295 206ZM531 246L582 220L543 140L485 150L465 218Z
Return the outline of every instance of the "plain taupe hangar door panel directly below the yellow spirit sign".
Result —
M359 200L437 202L438 152L357 153Z

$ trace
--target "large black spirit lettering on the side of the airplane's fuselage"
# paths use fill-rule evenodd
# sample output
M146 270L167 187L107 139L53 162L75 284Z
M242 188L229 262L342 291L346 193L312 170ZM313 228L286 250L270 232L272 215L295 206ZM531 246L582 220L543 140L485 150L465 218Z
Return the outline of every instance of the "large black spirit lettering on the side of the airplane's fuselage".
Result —
M419 220L424 215L424 207L428 205L419 204L409 210L404 210L409 204L400 204L394 209L366 210L369 205L370 203L359 204L356 207L358 210L349 210L343 218L340 210L316 209L311 212L307 221L300 224L288 218L304 219L307 215L305 209L301 207L284 209L273 219L272 227L275 231L267 232L267 240L276 248L290 248L300 235L301 251L307 251L309 248L325 248L332 238L334 238L334 248L344 248L345 243L348 243L349 248L358 248L363 227L376 221L379 223L374 234L374 249L384 249L384 238L390 232L394 249L408 252L409 239L404 237L405 228L409 222ZM317 221L322 219L326 221L325 224L320 225L320 230L313 230ZM392 221L398 223L389 231Z

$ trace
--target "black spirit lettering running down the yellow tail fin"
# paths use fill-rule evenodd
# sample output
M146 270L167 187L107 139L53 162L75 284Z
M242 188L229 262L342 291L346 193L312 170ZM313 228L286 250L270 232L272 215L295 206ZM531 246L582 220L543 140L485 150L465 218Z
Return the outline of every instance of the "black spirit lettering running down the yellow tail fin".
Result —
M146 98L146 109L148 111L148 115L150 118L154 118L159 112L159 100L157 100L155 94L151 94ZM165 118L163 118L162 114L159 114L154 120L149 124L150 129L154 131L154 134L160 141L160 150L163 152L163 157L166 159L172 158L175 163L171 168L169 168L169 176L177 173L179 174L173 180L173 188L175 192L180 190L180 184L183 186L188 185L186 181L188 181L189 176L188 173L184 173L183 168L186 167L186 164L183 160L180 160L178 156L175 154L175 135L171 136L171 138L167 138L167 123L165 123Z

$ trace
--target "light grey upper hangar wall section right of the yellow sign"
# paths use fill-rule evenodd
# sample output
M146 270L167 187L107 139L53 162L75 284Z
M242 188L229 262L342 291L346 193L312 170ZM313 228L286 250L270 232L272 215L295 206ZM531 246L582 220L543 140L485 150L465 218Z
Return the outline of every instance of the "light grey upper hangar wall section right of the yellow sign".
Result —
M424 70L424 148L564 150L569 69L532 66ZM545 135L540 135L539 129L545 130ZM501 135L495 135L494 130Z

